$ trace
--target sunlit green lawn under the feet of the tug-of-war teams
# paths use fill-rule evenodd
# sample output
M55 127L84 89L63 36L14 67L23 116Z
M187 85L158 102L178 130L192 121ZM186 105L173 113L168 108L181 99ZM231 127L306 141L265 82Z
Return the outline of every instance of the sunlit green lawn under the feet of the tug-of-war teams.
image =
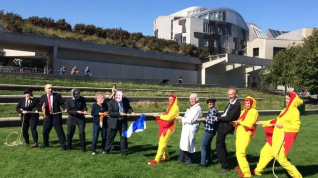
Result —
M272 119L272 117L261 117L260 119ZM298 138L291 148L288 159L297 167L306 178L317 178L317 137L318 125L317 116L302 116L302 126ZM130 123L129 123L130 124ZM200 141L203 134L203 124L196 136L195 163L190 166L178 163L179 140L181 124L177 122L175 132L169 141L170 161L159 165L147 165L147 162L155 158L158 146L158 125L154 121L147 121L147 129L141 133L134 133L128 138L130 155L122 157L119 151L118 135L115 139L115 148L110 155L100 154L100 143L97 144L99 151L97 155L90 154L92 125L86 125L87 152L79 151L78 129L74 135L74 150L62 151L55 130L50 133L50 148L30 148L29 146L6 146L0 144L0 168L1 177L70 177L70 178L193 178L193 177L212 177L212 178L234 178L236 172L233 170L237 166L235 157L235 135L227 137L227 148L229 152L229 163L232 169L229 173L219 175L215 173L220 166L218 165L215 154L215 138L212 142L214 151L214 165L208 168L199 168L197 164L200 159ZM42 126L38 126L39 142L43 143ZM7 135L12 131L20 132L20 127L0 128L0 139L5 142ZM64 125L64 130L67 130ZM31 136L31 135L30 135ZM23 137L21 138L23 141ZM10 138L10 142L15 137ZM259 152L265 144L265 135L262 127L257 127L257 131L252 138L251 144L247 149L247 159L250 166L255 168ZM273 178L271 171L272 162L267 166L262 178ZM289 178L287 172L276 163L275 173L279 178ZM106 176L107 175L107 176Z

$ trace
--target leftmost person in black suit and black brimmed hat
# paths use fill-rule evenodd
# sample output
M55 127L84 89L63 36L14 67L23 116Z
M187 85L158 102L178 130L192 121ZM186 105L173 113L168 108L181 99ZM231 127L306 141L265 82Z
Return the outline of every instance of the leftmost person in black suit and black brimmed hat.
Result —
M22 125L22 134L24 137L24 144L30 144L29 140L29 127L31 128L31 133L33 137L32 147L38 147L38 132L36 127L39 122L39 114L38 113L28 113L28 112L37 112L41 110L41 105L38 100L32 97L32 90L26 89L23 92L25 98L22 98L19 103L16 105L16 111L21 116L21 120L24 122Z

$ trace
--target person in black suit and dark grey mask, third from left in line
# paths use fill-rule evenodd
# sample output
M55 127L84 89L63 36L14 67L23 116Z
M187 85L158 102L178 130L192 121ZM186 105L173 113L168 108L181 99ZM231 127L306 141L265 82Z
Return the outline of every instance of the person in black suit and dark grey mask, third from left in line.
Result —
M87 107L85 98L80 96L79 89L72 89L72 98L66 100L66 109L69 114L66 123L68 124L68 144L67 150L72 149L72 139L75 133L76 125L79 127L80 150L86 151L85 142L85 116L87 115Z

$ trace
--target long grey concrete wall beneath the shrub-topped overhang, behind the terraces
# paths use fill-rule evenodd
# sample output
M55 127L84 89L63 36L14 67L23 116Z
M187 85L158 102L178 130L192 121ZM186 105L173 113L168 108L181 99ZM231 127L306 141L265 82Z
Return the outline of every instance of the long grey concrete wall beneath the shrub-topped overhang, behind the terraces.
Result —
M197 71L179 70L171 68L145 67L138 65L115 64L105 62L94 62L89 60L55 59L54 68L66 65L67 74L70 74L74 65L79 69L79 76L83 76L84 68L89 66L93 76L102 77L123 77L123 78L144 78L144 79L170 79L169 82L178 82L182 76L184 83L198 83Z

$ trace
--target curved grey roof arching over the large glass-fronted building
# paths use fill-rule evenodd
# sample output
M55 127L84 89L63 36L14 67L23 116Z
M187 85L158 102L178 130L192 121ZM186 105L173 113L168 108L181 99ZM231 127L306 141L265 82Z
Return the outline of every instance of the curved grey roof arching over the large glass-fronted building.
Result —
M200 16L200 15L203 15L205 13L212 12L212 11L227 11L227 12L232 12L232 13L237 14L239 16L239 18L241 19L242 23L235 23L236 19L230 19L228 17L228 14L227 14L226 21L229 22L229 23L234 23L235 25L238 25L238 26L240 26L240 27L242 27L242 28L244 28L245 30L248 31L248 27L247 27L246 22L245 22L244 18L242 17L242 15L238 11L236 11L236 10L234 10L232 8L227 8L227 7L210 8L210 9L201 11L199 13L196 13L196 14L193 14L193 15L189 15L187 17L197 17L197 16Z

